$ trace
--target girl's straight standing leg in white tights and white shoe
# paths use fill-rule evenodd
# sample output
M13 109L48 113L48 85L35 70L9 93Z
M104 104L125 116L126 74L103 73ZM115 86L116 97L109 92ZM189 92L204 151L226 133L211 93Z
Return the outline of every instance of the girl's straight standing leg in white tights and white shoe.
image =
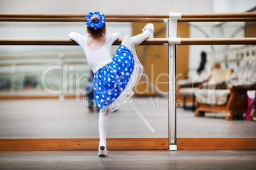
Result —
M104 108L99 110L99 156L106 156L106 132L108 128L108 118L110 109Z

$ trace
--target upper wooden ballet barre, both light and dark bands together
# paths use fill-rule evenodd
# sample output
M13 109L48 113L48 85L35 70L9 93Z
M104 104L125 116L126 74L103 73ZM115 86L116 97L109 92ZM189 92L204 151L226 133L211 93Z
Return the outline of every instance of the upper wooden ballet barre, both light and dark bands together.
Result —
M171 13L105 14L106 22L166 22ZM0 22L85 22L86 13L0 13ZM181 13L177 22L252 22L256 13Z

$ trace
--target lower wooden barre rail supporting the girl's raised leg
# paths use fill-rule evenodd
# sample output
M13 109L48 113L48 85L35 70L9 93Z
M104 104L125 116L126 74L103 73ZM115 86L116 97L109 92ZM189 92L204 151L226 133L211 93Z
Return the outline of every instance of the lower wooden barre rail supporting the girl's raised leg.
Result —
M141 45L162 45L167 44L167 38L146 39ZM118 39L113 44L121 44L122 39ZM181 38L181 44L178 45L241 45L256 44L256 38ZM78 45L71 39L0 39L0 45L59 45L59 46L75 46Z

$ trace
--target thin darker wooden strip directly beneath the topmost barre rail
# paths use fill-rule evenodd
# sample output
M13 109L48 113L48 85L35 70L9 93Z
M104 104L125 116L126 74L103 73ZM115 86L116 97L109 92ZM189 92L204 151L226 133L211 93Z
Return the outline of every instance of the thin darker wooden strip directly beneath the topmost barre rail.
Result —
M253 22L255 18L182 18L178 22ZM0 22L85 22L85 18L0 18ZM107 18L106 22L164 22L161 18Z

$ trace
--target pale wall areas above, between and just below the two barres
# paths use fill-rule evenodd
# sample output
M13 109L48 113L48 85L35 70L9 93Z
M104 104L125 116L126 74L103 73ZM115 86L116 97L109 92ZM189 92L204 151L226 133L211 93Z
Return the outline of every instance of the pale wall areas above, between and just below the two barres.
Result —
M201 6L204 6L202 8ZM211 0L143 0L143 1L84 1L84 0L1 0L0 12L14 13L182 13L211 12ZM120 37L131 36L131 23L108 23L108 32L118 32ZM67 38L70 31L87 34L85 23L24 23L1 22L0 37L4 38ZM2 46L0 53L49 51L53 49L80 49L79 47Z

